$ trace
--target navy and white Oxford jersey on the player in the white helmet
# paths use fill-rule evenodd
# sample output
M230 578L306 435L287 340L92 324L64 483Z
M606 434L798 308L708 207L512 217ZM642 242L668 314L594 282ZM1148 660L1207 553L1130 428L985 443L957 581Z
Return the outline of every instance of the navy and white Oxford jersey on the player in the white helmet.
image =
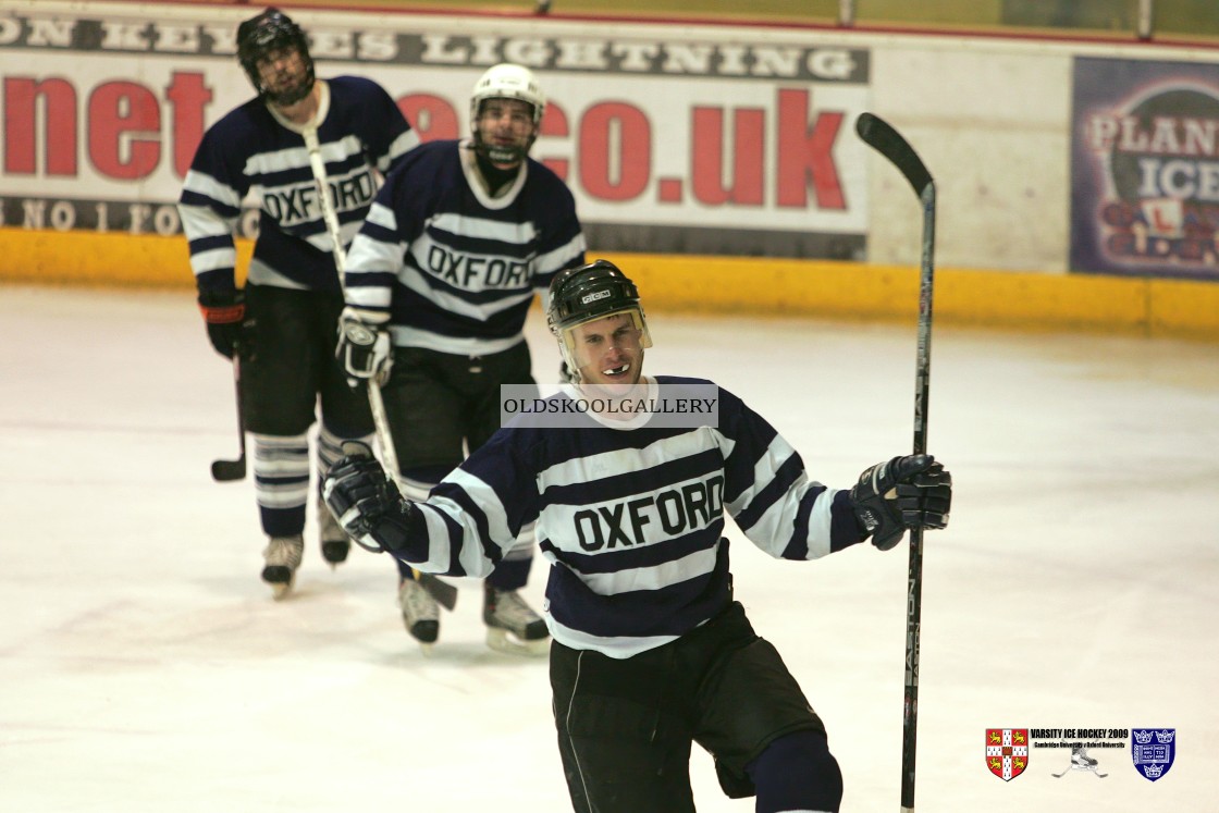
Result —
M469 140L432 141L390 173L347 256L347 304L386 319L400 347L502 352L523 340L534 291L584 263L575 200L525 158L492 197Z

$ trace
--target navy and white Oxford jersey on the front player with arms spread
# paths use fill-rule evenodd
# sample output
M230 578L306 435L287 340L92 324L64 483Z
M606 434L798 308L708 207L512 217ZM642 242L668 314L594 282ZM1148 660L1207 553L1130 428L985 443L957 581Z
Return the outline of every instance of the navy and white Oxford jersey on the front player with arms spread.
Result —
M714 386L653 383L670 399ZM718 392L716 427L623 430L583 416L580 428L542 428L519 416L418 503L399 555L423 570L485 577L536 520L552 564L555 640L627 658L729 602L725 513L774 557L812 559L861 541L848 491L808 480L769 423Z

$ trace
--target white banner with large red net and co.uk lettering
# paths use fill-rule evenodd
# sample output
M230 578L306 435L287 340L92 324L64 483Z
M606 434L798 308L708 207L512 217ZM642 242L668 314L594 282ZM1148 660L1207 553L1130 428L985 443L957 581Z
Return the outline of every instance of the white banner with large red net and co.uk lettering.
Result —
M200 137L252 94L234 39L256 11L0 0L2 224L177 233ZM774 28L291 15L319 77L375 79L424 139L467 132L488 66L535 69L550 104L533 156L597 250L865 258L867 49Z

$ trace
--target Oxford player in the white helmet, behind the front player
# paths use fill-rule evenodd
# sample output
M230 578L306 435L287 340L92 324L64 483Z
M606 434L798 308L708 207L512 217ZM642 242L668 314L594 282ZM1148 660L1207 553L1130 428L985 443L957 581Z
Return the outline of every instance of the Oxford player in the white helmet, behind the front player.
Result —
M534 383L523 335L534 293L584 262L570 191L528 156L545 107L529 69L488 69L471 96L471 137L412 151L347 256L343 333L380 334L372 346L340 340L347 371L383 380L401 483L419 500L499 428L500 385ZM521 535L484 584L486 640L545 655L546 624L519 595L534 549L528 527ZM428 651L436 601L406 564L399 603Z

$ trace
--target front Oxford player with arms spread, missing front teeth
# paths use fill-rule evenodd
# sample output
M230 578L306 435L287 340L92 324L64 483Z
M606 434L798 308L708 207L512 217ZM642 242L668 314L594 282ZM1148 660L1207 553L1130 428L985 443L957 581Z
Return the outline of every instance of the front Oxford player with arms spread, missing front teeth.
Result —
M362 545L423 570L483 575L535 522L553 567L546 620L555 723L575 811L694 811L692 742L731 797L757 811L837 811L842 778L822 720L779 653L733 600L724 514L763 551L812 559L870 536L944 528L952 480L928 455L895 457L853 488L812 481L798 453L718 389L718 419L623 418L605 394L639 386L669 402L714 388L642 377L651 346L635 285L606 261L562 272L549 323L579 389L521 416L424 502L400 496L367 449L327 475L325 500ZM602 403L564 411L564 399ZM623 401L625 405L627 401ZM545 428L555 412L569 428Z

